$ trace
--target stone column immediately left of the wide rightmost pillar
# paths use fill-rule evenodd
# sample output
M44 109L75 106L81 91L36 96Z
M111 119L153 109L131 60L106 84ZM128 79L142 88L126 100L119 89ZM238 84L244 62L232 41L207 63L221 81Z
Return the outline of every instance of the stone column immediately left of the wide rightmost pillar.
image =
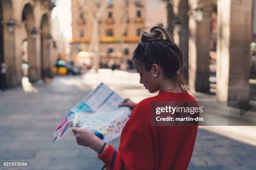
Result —
M196 91L209 92L209 52L210 52L210 17L211 1L203 1L195 7L194 0L189 1L189 85ZM202 18L198 19L201 8ZM197 18L196 18L197 17Z

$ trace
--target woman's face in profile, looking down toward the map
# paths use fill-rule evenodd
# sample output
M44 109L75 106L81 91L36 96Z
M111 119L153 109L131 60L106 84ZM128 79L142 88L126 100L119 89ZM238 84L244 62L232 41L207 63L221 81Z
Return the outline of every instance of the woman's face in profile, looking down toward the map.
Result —
M147 71L139 62L134 62L134 66L140 74L140 83L143 84L150 93L156 92L158 90L158 81L154 77L155 74L153 70Z

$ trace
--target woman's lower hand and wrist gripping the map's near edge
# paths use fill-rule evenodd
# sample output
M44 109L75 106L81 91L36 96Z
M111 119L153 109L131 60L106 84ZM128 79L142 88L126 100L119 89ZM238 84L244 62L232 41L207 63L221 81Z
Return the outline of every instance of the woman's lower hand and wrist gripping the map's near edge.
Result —
M97 153L100 152L100 149L104 145L104 142L100 140L100 138L95 136L90 130L74 127L72 131L77 139L78 145L90 147ZM107 146L105 146L104 148L107 148Z

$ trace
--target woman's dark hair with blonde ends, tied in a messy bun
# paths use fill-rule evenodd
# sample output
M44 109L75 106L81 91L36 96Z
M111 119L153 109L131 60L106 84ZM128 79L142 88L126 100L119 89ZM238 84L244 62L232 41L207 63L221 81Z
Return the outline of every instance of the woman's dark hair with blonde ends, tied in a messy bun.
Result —
M175 86L189 90L187 81L180 72L184 64L182 51L174 43L172 34L163 27L154 26L150 32L142 33L141 42L133 53L133 61L141 63L148 71L153 64L159 65L164 76L173 80Z

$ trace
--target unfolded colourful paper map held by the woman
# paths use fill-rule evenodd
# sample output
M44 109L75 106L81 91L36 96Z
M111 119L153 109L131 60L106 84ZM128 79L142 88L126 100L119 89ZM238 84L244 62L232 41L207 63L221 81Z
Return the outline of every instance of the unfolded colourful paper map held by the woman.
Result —
M91 130L106 143L117 138L131 115L129 107L118 106L122 102L122 97L100 83L62 118L54 132L54 142L73 126Z

